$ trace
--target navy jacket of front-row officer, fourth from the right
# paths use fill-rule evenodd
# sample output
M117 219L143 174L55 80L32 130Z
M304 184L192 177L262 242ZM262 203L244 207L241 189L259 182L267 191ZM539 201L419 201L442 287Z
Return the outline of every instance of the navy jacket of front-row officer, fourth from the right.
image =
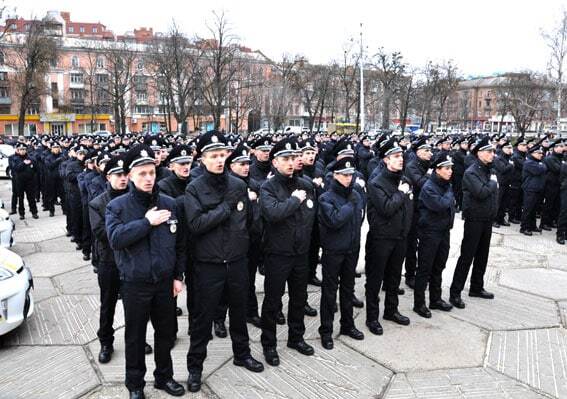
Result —
M331 253L358 253L364 201L350 187L333 180L319 197L319 232L321 247Z

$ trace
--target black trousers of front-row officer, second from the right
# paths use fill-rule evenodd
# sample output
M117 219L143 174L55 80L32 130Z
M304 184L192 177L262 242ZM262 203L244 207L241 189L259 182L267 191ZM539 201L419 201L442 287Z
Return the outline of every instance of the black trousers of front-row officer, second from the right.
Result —
M425 305L425 290L429 284L429 303L441 299L441 281L449 258L450 232L419 232L419 263L413 291L414 305Z

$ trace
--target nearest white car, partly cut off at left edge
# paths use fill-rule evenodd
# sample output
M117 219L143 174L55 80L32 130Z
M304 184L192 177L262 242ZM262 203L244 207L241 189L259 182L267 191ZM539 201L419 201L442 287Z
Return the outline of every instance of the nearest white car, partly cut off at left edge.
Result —
M33 314L33 278L22 258L0 248L0 336Z

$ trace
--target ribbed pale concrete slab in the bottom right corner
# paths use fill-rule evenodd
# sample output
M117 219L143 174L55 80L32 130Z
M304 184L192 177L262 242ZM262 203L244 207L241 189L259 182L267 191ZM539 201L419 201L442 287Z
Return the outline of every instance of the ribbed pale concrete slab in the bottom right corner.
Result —
M567 330L494 332L487 365L552 397L567 397Z

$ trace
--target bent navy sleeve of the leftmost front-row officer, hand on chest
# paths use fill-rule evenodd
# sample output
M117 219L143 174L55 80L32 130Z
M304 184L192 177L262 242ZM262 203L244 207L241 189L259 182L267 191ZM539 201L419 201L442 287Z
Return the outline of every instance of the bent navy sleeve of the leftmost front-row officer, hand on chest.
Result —
M114 250L122 250L137 243L152 229L149 220L145 217L127 223L122 222L112 202L106 206L105 219L108 241Z

